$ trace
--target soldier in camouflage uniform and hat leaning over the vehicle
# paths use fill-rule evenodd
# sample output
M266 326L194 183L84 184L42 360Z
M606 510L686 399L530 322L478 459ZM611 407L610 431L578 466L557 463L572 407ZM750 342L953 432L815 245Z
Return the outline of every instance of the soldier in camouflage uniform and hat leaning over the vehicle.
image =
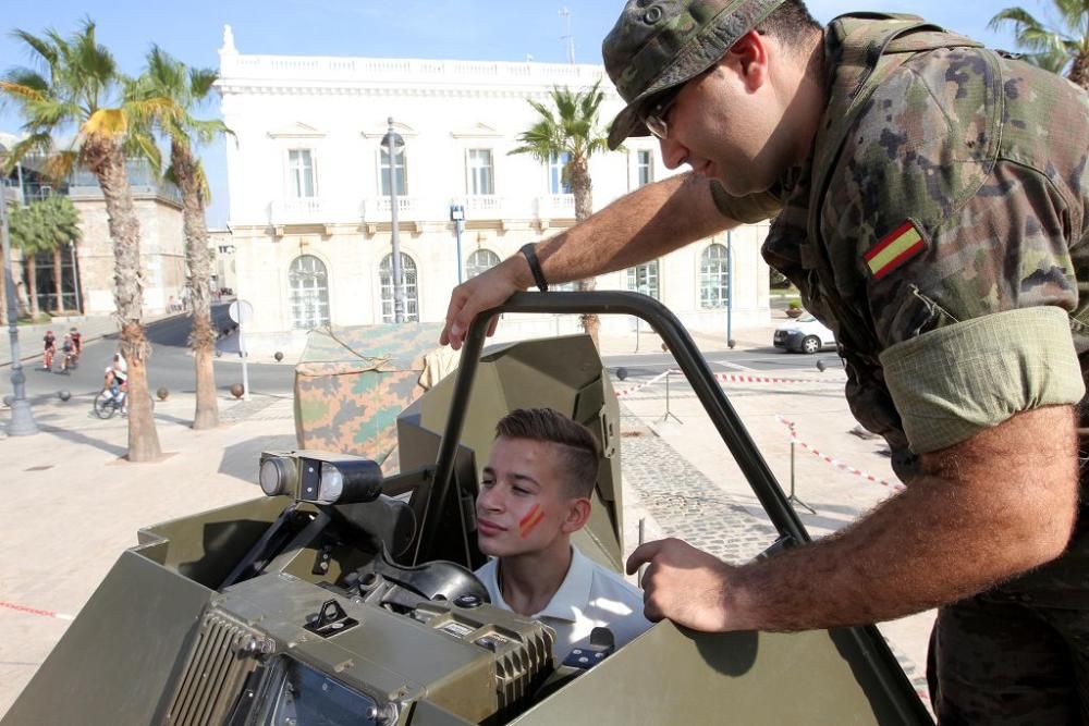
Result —
M942 723L1089 719L1086 93L920 19L821 28L800 0L631 0L603 53L627 101L610 145L653 134L692 172L456 287L441 341L535 282L775 216L764 257L836 332L907 489L741 567L648 543L628 561L649 563L647 615L797 630L940 606Z

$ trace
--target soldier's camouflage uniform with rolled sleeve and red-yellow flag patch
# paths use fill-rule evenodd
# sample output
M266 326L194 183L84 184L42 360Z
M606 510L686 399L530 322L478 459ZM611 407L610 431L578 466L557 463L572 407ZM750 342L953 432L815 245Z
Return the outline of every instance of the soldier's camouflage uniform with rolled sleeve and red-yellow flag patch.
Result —
M742 222L781 210L764 257L836 332L852 411L909 483L919 454L1085 394L1089 97L909 16L824 40L808 162L764 194L712 188ZM646 133L629 109L611 143ZM1059 559L941 608L928 665L943 724L1089 723L1089 516Z

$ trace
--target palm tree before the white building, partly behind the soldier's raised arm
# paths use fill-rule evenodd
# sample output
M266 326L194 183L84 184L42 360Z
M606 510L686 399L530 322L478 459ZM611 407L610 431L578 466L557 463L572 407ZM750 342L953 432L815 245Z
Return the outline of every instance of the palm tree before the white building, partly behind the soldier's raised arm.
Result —
M553 87L551 97L555 106L552 109L538 101L530 100L540 116L537 122L518 136L523 144L511 153L528 153L543 164L555 159L565 159L563 181L571 185L575 197L575 220L583 221L594 213L594 184L590 180L590 157L609 149L608 135L598 123L598 107L601 106L603 94L599 90L600 82L594 84L585 93L573 91L567 87ZM591 291L597 287L597 280L589 278L578 281L578 290ZM580 317L583 330L598 344L598 328L600 320L596 315Z

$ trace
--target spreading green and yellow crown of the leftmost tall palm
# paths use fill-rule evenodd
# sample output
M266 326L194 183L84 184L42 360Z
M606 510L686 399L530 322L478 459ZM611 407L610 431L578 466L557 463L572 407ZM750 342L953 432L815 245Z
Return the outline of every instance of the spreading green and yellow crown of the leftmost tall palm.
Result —
M125 156L146 158L159 172L159 149L144 123L150 102L135 96L134 82L98 42L94 21L85 19L68 38L53 29L40 36L14 30L12 36L37 67L12 69L0 78L0 101L15 108L25 134L3 169L38 156L48 160L47 174L63 179L77 163L93 164L96 159L88 152L107 143L121 144ZM60 139L71 140L60 148Z

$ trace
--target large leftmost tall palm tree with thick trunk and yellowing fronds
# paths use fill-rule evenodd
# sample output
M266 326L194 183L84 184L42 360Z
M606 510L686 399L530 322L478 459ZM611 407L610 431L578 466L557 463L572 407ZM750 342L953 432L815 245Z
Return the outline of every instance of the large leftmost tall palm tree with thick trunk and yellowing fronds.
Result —
M15 30L13 36L41 70L17 67L0 79L0 94L17 108L27 134L7 163L39 155L47 159L46 173L54 179L66 177L77 167L98 179L113 239L113 300L121 353L129 362L129 459L154 460L161 448L147 386L139 219L125 165L127 158L142 157L158 172L155 139L138 124L149 114L144 108L147 102L132 99L131 82L120 73L109 49L97 41L89 19L70 38L52 29L41 36ZM54 139L65 138L71 140L57 150Z

